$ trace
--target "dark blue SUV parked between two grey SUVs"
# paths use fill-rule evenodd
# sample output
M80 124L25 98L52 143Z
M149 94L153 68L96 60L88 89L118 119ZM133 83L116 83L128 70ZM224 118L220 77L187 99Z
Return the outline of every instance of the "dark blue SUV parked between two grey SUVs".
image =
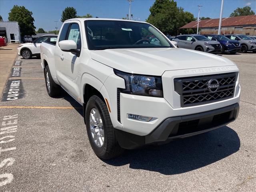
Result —
M220 42L220 44L222 46L221 53L235 54L236 52L241 51L241 45L237 40L230 40L229 38L225 37L224 35L209 34L209 35L204 35L204 36L206 36L210 40Z

